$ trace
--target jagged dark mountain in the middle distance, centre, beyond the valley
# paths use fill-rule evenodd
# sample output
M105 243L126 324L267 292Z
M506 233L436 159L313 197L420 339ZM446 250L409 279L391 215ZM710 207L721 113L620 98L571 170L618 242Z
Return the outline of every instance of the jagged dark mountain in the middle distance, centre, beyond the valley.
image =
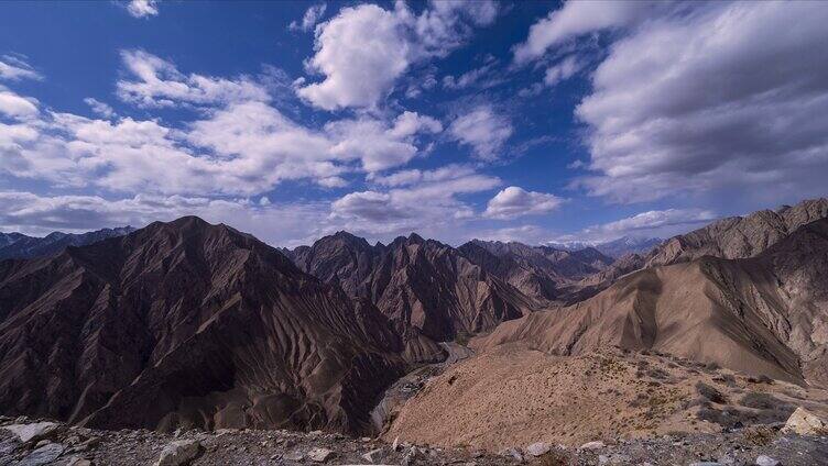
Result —
M538 303L458 249L413 234L369 245L337 233L291 253L299 268L373 302L399 332L438 340L477 333Z

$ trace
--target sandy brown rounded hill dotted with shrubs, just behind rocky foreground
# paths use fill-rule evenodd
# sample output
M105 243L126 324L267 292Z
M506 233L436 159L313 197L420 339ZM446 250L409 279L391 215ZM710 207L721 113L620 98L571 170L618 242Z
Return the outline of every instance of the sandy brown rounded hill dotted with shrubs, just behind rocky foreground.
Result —
M667 355L553 356L509 344L431 379L384 439L492 452L535 442L609 444L784 422L797 406L828 417L828 391Z

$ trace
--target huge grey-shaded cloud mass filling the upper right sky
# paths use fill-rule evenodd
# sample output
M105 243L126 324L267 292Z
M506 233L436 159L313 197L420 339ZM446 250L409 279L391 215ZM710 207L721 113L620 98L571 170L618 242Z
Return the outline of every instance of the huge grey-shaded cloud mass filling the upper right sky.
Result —
M828 121L814 115L828 112L828 10L701 7L653 13L612 45L577 108L597 173L580 186L620 202L824 195Z

